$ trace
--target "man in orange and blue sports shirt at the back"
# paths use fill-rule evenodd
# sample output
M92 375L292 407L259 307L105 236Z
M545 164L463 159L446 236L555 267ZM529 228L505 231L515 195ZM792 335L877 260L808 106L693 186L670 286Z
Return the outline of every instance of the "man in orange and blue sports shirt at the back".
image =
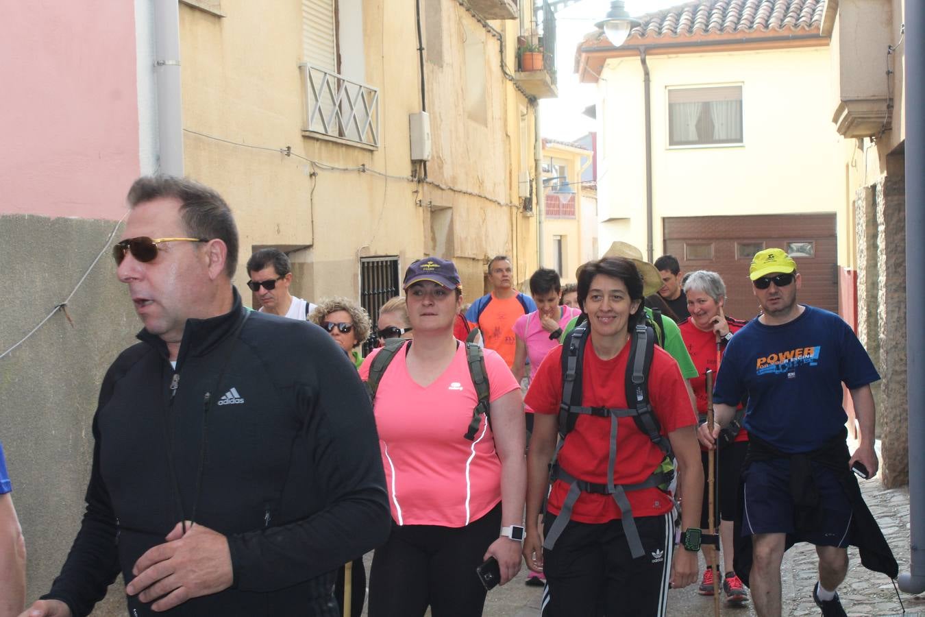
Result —
M491 293L472 303L465 318L482 332L488 349L495 350L510 368L514 364L514 322L517 317L536 311L533 298L514 289L511 260L498 255L488 262Z

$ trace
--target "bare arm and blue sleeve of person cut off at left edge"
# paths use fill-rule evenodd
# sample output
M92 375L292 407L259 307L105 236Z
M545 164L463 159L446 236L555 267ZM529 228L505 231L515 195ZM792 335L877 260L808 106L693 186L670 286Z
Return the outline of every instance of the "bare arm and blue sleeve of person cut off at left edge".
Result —
M26 543L10 497L12 490L0 443L0 617L18 615L26 601Z

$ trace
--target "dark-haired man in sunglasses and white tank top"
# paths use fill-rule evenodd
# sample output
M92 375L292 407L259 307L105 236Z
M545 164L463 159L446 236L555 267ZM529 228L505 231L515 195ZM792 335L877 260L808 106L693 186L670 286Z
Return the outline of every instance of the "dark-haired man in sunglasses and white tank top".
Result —
M305 321L314 304L290 294L292 264L289 256L278 249L261 249L247 260L251 280L247 286L260 301L261 313L271 313Z

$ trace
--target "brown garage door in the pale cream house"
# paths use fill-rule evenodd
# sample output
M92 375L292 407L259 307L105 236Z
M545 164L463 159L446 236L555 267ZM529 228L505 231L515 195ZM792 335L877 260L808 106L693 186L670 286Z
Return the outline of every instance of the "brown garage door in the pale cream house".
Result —
M799 302L838 312L835 215L678 216L662 219L665 253L682 272L713 270L726 284L726 315L759 313L748 279L751 257L780 247L791 253L803 280Z

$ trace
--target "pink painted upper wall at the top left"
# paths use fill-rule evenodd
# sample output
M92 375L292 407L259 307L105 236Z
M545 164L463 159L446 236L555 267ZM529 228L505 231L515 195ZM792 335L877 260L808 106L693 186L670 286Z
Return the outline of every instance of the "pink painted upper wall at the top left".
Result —
M0 215L125 213L140 168L133 4L0 2Z

